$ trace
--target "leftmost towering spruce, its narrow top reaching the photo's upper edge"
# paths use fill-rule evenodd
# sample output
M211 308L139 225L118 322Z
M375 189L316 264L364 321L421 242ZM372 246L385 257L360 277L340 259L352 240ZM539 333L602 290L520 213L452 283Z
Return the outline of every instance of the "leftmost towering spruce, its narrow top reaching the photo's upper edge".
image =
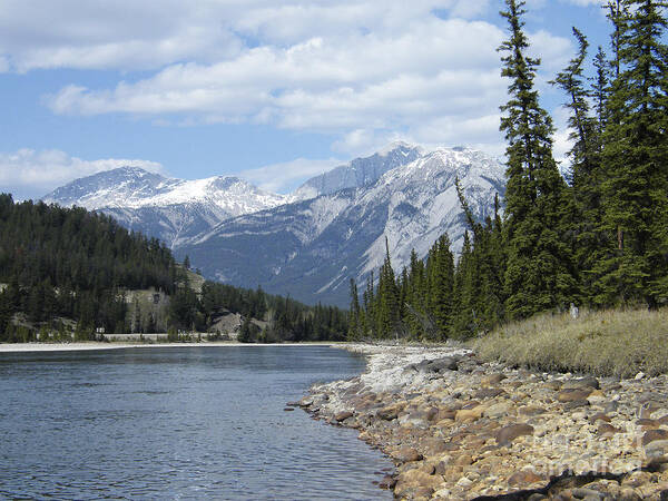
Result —
M524 2L505 1L509 23L502 76L511 80L501 107L507 148L504 232L507 312L511 318L566 306L574 292L572 257L563 240L567 186L552 157L552 120L540 107L533 80L539 59L527 56L529 41L521 17Z

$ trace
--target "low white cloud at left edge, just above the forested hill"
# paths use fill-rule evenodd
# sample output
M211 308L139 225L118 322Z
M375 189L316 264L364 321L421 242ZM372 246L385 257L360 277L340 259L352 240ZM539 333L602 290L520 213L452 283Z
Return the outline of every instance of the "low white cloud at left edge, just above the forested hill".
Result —
M84 160L56 149L36 151L26 148L0 153L0 191L11 187L10 190L20 194L20 197L39 198L79 177L125 166L154 173L163 170L163 166L155 161L120 158Z

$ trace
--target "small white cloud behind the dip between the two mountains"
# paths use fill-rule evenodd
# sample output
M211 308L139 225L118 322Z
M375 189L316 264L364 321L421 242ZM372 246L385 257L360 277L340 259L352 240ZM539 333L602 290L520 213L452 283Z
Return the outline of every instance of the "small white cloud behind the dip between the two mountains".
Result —
M259 186L262 189L274 193L288 193L305 179L326 173L342 164L343 161L334 158L326 160L297 158L292 161L243 170L238 176Z

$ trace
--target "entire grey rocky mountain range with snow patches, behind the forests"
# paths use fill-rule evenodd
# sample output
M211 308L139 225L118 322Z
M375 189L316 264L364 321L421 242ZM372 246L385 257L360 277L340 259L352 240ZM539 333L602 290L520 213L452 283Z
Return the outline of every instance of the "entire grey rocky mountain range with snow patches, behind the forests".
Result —
M161 238L207 277L344 306L350 278L364 286L382 264L385 236L397 271L411 249L424 257L443 233L461 248L455 177L475 215L492 215L494 195L504 191L498 160L403 143L314 177L292 195L234 177L169 179L128 167L78 179L43 200L100 210Z

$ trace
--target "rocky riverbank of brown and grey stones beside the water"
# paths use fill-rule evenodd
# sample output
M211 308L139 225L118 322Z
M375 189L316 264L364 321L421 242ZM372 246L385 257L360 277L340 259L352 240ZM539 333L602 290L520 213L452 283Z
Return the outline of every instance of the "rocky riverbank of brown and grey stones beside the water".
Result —
M401 499L668 500L668 377L538 373L461 347L350 345L364 374L294 403L357 429Z

